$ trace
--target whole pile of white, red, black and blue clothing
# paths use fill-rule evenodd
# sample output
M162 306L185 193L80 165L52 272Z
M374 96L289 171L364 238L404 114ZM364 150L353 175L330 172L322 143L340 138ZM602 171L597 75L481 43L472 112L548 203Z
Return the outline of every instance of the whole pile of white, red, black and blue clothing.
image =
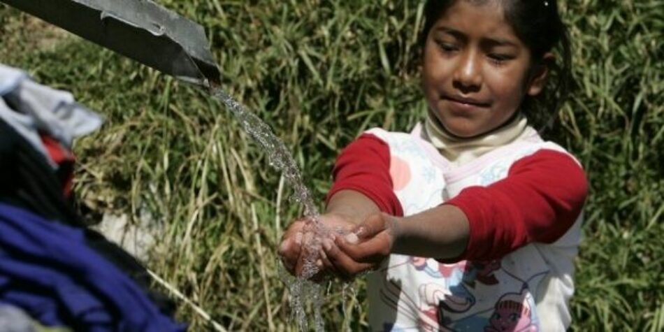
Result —
M0 331L185 331L147 270L73 208L74 138L101 117L0 64Z

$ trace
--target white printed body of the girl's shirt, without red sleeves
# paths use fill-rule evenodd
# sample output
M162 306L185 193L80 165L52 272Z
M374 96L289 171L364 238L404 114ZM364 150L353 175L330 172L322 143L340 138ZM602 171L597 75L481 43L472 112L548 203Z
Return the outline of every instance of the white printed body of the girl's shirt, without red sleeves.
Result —
M565 152L531 127L461 166L412 133L371 129L389 147L390 176L405 216L444 203L471 186L507 176L538 150ZM566 152L565 152L566 153ZM551 244L531 243L494 261L442 264L393 254L368 278L372 331L564 331L574 291L574 257L582 217Z

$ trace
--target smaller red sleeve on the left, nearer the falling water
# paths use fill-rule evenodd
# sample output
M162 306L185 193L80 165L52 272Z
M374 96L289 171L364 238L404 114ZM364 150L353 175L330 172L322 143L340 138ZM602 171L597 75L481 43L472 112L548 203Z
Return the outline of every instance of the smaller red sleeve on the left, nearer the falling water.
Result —
M389 174L390 154L387 143L365 133L339 155L333 170L334 184L327 201L341 190L354 190L367 196L382 212L403 216L401 203L394 194Z

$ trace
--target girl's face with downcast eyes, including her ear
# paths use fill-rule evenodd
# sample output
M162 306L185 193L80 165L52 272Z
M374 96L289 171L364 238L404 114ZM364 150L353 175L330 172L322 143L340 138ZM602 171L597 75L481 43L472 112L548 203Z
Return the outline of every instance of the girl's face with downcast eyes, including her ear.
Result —
M509 120L526 94L540 93L547 71L530 69L531 52L498 1L457 0L426 37L424 94L449 133L477 136Z

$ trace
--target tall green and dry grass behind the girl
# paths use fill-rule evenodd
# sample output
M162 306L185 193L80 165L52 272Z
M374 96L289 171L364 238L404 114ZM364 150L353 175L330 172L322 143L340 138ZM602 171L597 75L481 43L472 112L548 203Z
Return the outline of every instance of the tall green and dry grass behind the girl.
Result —
M158 2L203 24L224 87L287 143L317 199L340 147L369 127L408 129L424 112L419 1ZM551 136L591 182L573 330L662 331L664 1L561 2L575 93ZM106 117L75 146L89 219L160 225L148 266L226 329L294 329L275 247L301 208L219 103L4 5L0 45L0 62ZM356 284L351 307L365 296ZM366 308L344 315L341 297L333 285L328 330L366 326ZM190 305L178 315L212 329Z

